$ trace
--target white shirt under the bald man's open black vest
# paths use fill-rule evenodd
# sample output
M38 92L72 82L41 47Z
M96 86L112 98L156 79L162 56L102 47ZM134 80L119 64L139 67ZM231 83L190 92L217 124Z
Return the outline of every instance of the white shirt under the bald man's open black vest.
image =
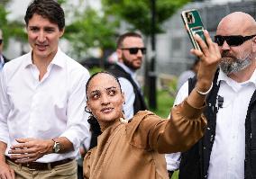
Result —
M220 70L217 82L220 83L218 95L224 97L224 103L216 115L208 179L241 179L244 178L245 118L256 89L256 71L250 80L237 83ZM187 94L188 83L179 90L175 103L180 103ZM180 153L166 155L169 170L178 169L179 156Z

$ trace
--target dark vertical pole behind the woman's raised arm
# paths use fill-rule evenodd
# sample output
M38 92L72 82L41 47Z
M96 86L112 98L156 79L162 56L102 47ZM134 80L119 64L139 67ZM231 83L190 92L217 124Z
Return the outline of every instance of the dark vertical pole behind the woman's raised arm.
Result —
M157 109L157 95L156 95L156 72L155 72L155 22L156 22L156 0L151 0L151 65L150 65L150 89L149 89L149 104L151 109Z

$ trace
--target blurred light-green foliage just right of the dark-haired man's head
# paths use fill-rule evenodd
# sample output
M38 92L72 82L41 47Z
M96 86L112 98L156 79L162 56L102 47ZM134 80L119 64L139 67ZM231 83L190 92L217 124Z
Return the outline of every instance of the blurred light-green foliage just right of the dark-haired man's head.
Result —
M114 49L115 22L108 21L91 8L76 13L72 23L67 25L64 37L70 41L78 58L90 48Z

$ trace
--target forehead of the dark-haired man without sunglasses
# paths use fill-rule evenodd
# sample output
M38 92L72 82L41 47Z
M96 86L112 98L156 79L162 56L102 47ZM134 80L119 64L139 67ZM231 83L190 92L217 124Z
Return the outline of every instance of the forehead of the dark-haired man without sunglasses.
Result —
M50 22L48 18L44 18L41 15L34 13L32 18L28 22L28 26L49 26L49 27L58 27L58 24Z

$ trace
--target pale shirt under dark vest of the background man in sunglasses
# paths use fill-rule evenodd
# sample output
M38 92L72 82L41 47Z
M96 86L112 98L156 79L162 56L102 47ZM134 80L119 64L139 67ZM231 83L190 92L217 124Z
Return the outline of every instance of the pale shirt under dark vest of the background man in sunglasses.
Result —
M140 87L140 85L138 84L138 82L136 80L136 74L133 70L131 70L129 67L126 67L125 65L123 65L123 63L117 62L116 64L118 66L122 67L125 72L130 74L132 76L135 84ZM133 91L133 85L131 84L131 82L128 79L126 79L124 77L118 77L118 80L120 82L121 89L124 93L124 98L125 98L125 103L123 104L124 116L125 116L126 120L130 120L133 118L133 112L134 112L133 103L135 100L135 94Z

